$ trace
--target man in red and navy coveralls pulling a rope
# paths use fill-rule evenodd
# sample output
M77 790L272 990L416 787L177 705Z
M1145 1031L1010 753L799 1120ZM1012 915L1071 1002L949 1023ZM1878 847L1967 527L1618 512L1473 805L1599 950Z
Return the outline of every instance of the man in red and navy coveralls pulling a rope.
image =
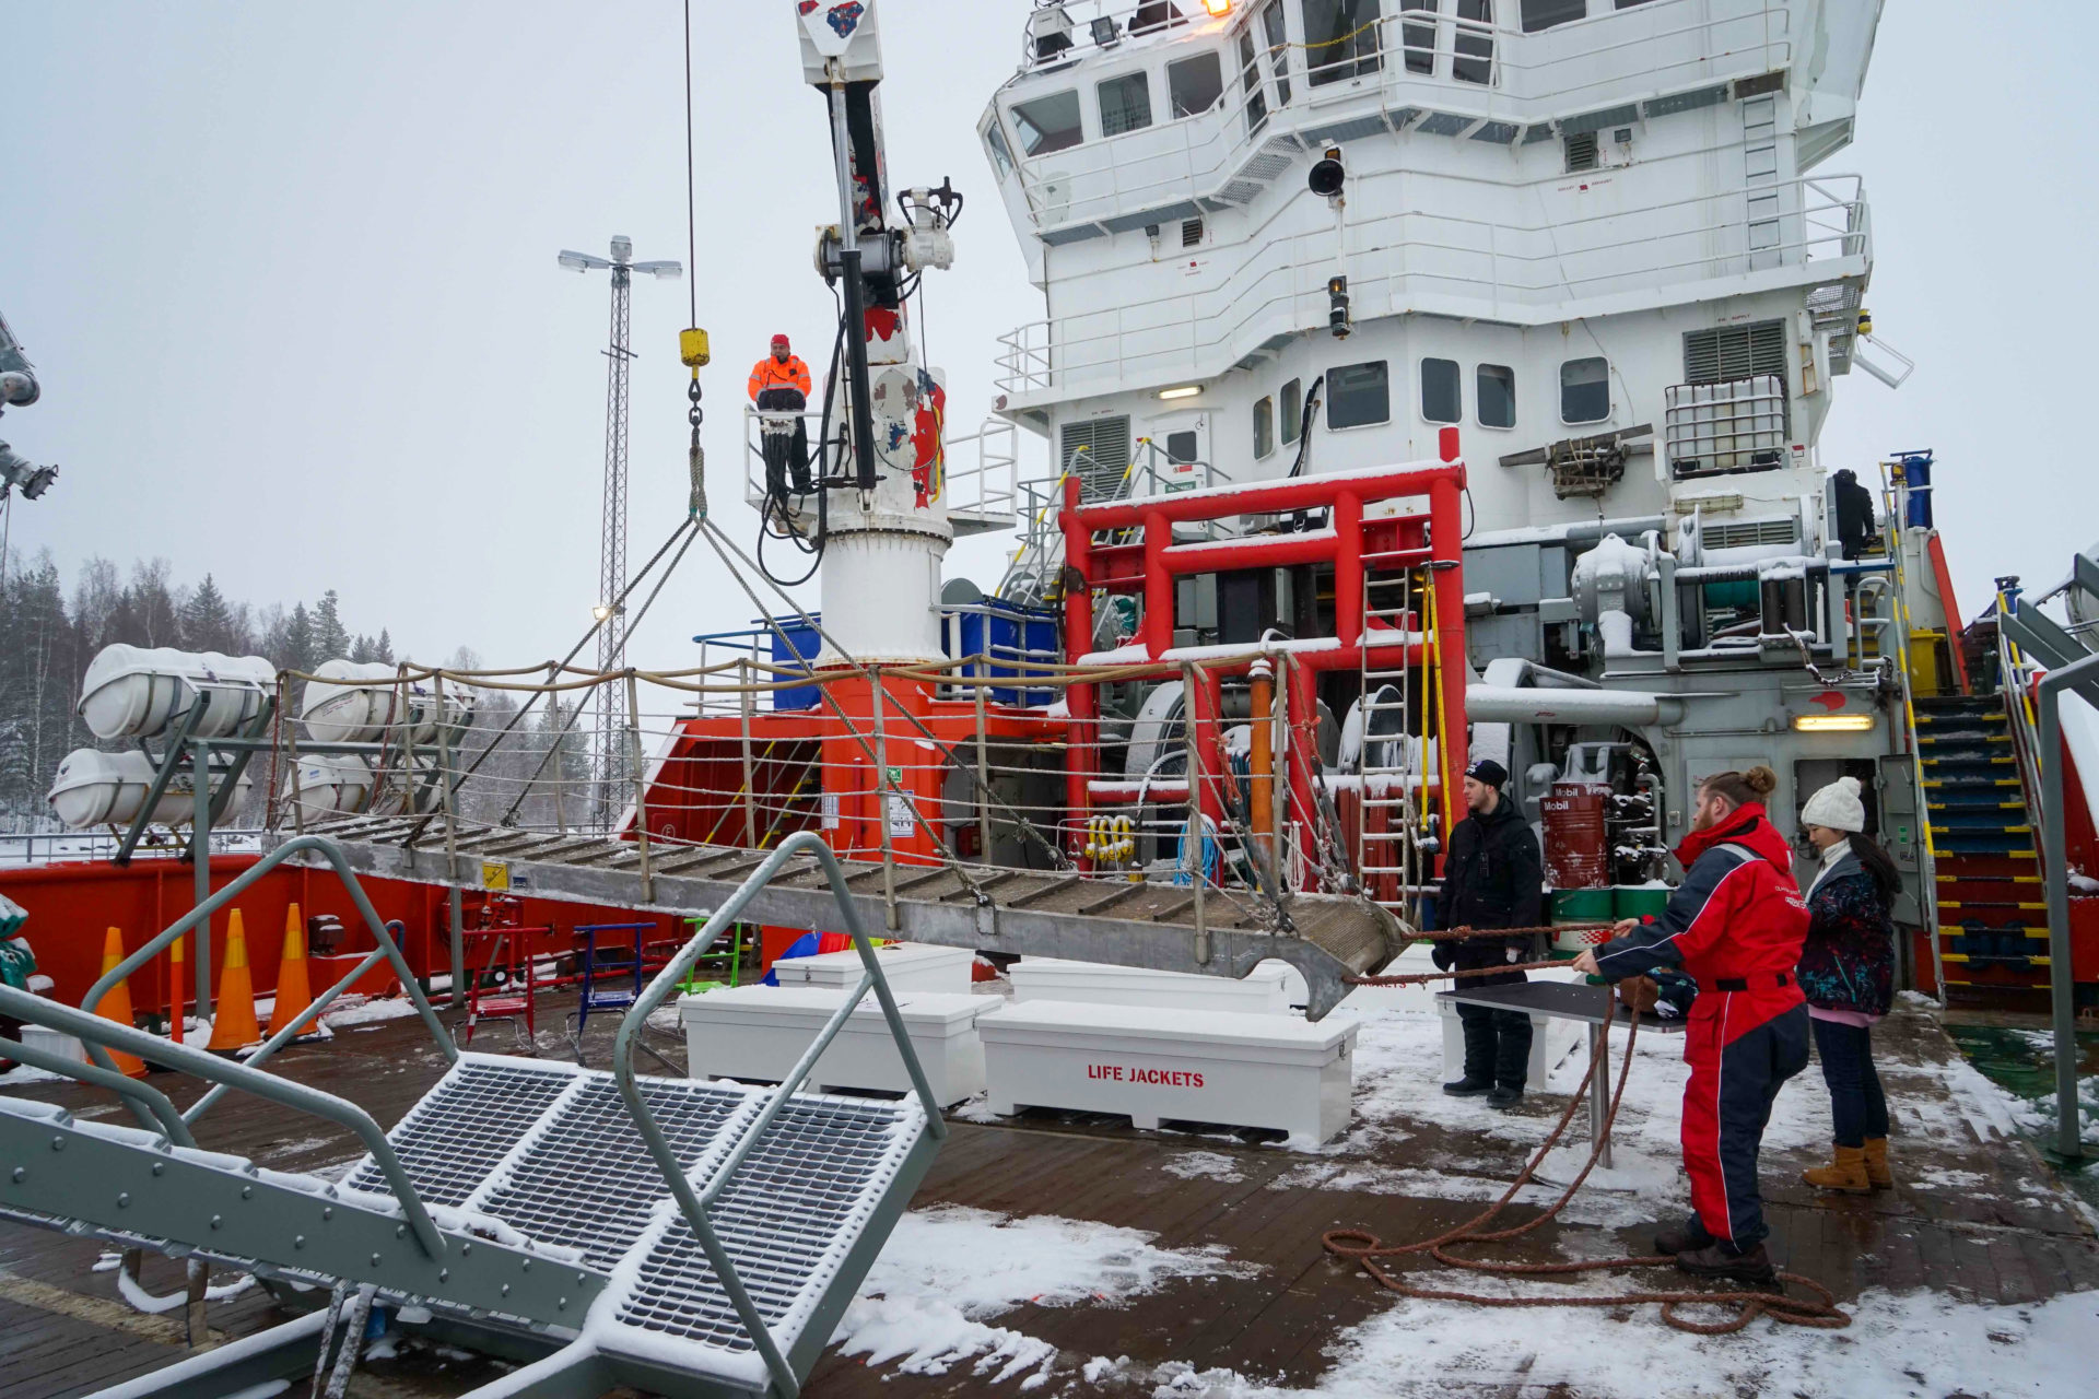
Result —
M1683 1034L1683 1168L1692 1219L1654 1237L1656 1252L1700 1277L1767 1286L1778 1269L1757 1193L1757 1149L1778 1086L1807 1068L1807 1003L1795 984L1807 904L1793 852L1763 812L1769 768L1698 784L1692 833L1677 845L1683 883L1660 917L1627 919L1574 961L1612 982L1681 967L1698 980Z

